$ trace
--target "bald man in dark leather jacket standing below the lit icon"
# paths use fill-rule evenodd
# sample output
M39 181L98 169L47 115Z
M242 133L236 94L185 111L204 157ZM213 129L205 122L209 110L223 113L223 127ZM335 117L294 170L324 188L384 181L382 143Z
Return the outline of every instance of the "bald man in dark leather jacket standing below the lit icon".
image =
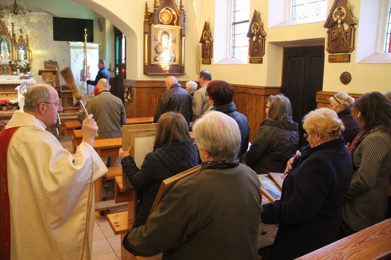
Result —
M157 123L160 115L169 111L174 111L182 114L188 124L190 124L192 119L193 100L190 93L183 88L173 76L167 77L166 89L167 91L159 98L156 113L153 117L153 123Z

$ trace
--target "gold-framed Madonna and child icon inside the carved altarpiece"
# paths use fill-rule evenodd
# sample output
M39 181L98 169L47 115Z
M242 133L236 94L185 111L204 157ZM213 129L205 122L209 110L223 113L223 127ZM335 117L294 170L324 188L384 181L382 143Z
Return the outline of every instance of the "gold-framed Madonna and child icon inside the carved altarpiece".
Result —
M178 37L178 27L154 25L151 38L151 63L178 64Z

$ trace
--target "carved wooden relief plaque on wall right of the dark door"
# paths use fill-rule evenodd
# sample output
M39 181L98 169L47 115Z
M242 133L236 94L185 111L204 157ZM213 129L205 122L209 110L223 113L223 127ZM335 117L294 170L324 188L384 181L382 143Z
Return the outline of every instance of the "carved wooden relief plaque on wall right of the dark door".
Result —
M354 50L354 34L357 19L353 17L350 4L346 0L335 0L327 17L325 28L327 31L326 50L331 54L344 53L341 55L329 55L329 62L349 62L350 54Z

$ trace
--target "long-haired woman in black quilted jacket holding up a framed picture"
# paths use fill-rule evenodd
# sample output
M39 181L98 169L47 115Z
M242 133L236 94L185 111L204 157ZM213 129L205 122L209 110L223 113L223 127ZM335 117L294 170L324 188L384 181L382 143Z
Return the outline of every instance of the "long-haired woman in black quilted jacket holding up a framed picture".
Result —
M189 134L189 126L181 114L167 112L157 122L153 152L145 156L137 168L127 151L120 149L120 159L130 183L136 190L139 203L133 227L144 225L163 180L198 165L198 152Z

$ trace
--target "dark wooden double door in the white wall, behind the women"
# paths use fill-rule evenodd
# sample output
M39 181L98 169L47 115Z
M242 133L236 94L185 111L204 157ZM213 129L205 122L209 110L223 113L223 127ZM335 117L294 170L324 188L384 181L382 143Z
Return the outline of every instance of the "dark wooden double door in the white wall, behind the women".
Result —
M292 105L292 118L299 126L299 148L304 139L302 119L316 104L316 92L323 88L325 46L284 48L282 93Z

